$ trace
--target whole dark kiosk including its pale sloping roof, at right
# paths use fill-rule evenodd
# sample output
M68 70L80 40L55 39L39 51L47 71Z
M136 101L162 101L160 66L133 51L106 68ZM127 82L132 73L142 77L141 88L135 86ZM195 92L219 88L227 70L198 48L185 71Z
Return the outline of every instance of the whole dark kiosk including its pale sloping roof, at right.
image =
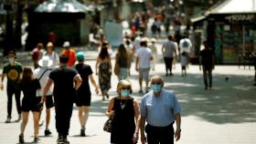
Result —
M227 0L194 18L203 17L195 21L194 29L203 29L201 35L214 48L217 64L248 64L256 52L256 8L251 6L255 4L240 2ZM238 8L239 4L245 6Z

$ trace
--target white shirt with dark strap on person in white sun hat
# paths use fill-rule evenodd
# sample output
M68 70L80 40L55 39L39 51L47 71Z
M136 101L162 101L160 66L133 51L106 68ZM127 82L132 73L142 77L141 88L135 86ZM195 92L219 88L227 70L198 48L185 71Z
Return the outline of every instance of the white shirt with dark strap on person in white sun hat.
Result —
M48 67L38 67L37 69L35 69L34 71L34 77L36 77L37 79L39 77L42 76L42 74L45 72L45 70L47 70ZM49 73L51 72L51 70L47 70L44 75L39 79L39 83L40 83L40 86L41 86L41 89L37 90L37 97L42 97L43 94L44 94L44 88L46 87L47 85L47 82L48 82L48 76L49 76ZM52 95L52 90L53 90L53 87L50 87L49 90L48 90L48 93L47 93L47 96L49 95Z

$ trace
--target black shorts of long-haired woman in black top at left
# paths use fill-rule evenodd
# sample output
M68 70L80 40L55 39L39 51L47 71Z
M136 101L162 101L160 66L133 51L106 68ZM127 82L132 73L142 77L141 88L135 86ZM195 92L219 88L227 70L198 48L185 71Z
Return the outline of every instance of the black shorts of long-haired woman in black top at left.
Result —
M41 101L40 97L35 98L34 100L23 98L22 99L22 105L21 105L21 111L28 112L40 112L41 107L39 107L39 103Z

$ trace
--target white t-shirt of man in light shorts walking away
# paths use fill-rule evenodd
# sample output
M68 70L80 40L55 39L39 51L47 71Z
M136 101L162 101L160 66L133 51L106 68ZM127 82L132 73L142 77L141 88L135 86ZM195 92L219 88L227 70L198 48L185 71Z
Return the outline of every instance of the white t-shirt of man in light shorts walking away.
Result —
M151 49L148 47L139 48L136 52L136 57L139 58L139 68L150 68Z

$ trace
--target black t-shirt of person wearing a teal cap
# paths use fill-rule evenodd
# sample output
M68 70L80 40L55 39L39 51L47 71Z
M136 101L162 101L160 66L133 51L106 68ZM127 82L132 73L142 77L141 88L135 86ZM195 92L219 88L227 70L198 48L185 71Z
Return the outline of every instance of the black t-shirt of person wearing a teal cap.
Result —
M89 76L93 73L91 70L91 67L86 64L78 64L75 66L75 68L79 72L80 77L82 79L82 83L80 88L78 89L78 92L91 95L91 90L89 85Z

